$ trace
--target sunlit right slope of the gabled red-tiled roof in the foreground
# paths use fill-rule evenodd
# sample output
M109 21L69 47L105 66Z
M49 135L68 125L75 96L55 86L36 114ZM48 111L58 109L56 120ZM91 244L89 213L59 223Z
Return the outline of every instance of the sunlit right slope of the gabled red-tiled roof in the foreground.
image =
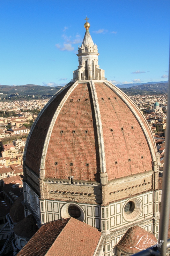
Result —
M71 218L46 255L92 256L101 235L96 228Z

